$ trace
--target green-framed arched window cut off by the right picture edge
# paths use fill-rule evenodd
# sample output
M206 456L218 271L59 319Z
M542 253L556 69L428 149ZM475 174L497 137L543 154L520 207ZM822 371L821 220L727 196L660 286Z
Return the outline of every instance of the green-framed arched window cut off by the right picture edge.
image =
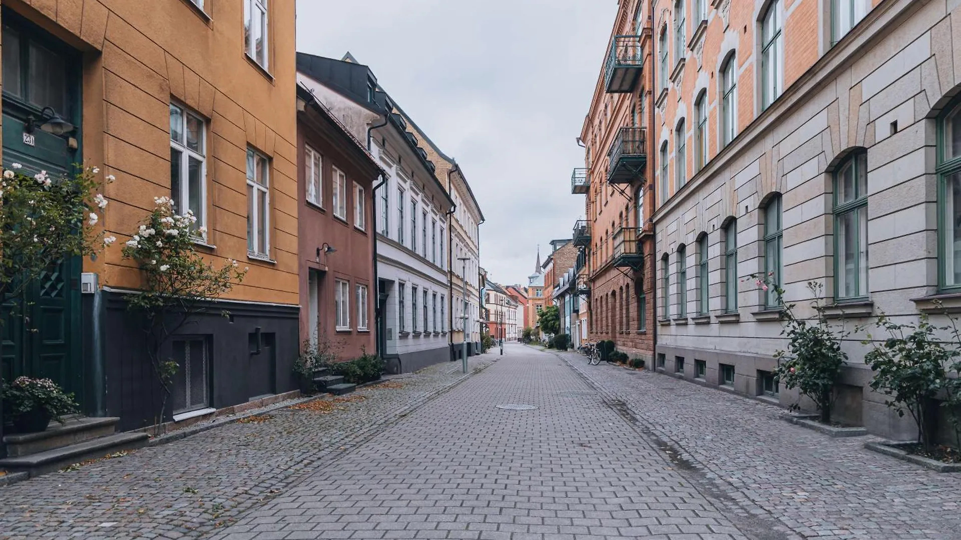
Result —
M941 286L961 286L961 102L941 118L938 211Z

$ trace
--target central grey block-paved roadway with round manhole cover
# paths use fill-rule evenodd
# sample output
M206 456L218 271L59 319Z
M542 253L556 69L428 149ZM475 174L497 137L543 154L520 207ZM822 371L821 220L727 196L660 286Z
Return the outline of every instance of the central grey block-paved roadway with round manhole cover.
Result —
M212 540L783 538L757 518L732 524L681 469L559 358L507 344Z

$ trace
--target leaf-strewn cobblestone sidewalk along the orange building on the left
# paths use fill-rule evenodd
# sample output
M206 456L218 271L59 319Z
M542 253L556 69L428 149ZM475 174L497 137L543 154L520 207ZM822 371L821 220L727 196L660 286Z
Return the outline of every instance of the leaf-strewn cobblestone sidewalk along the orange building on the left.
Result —
M494 359L474 356L470 368ZM333 412L282 408L271 418L0 487L0 538L199 537L282 494L461 378L460 363L446 362L363 388Z

